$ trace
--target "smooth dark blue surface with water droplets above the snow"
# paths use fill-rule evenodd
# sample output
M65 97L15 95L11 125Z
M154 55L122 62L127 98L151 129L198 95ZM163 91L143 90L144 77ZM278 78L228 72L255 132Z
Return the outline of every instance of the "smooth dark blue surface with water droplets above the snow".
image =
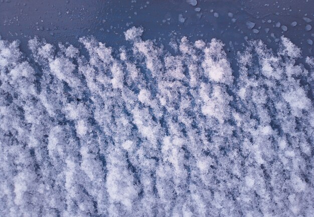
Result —
M195 11L198 7L200 12ZM214 17L215 12L218 18ZM307 40L314 40L314 34L313 30L305 31L307 23L303 17L314 19L313 12L311 0L199 0L195 7L186 0L0 0L0 35L10 41L19 39L24 52L28 39L34 36L53 44L69 42L80 46L79 37L92 35L108 46L119 47L126 44L123 32L132 26L144 27L144 39L161 41L166 48L175 35L188 36L192 41L218 38L226 44L226 50L232 50L230 41L239 50L247 36L263 40L275 49L274 39L284 35L301 47L304 56L312 56ZM179 14L186 18L184 23L179 22ZM248 21L255 23L258 34L247 28ZM297 26L291 27L294 21ZM276 28L277 22L288 30ZM265 28L270 29L268 34ZM233 57L234 52L228 55Z

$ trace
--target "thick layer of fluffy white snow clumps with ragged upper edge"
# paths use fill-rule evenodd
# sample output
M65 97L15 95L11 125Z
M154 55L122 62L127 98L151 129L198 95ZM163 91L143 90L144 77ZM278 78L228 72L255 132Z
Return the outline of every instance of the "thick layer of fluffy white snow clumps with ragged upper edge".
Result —
M0 41L0 216L313 216L313 58L142 33Z

